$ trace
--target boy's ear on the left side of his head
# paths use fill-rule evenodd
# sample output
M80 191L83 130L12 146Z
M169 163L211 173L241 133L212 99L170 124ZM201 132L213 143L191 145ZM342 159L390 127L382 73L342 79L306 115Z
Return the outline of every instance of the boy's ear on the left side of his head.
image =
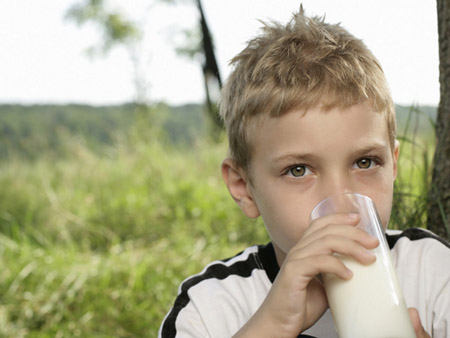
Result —
M226 158L222 162L221 169L222 178L237 205L246 216L258 217L259 210L252 196L250 182L242 168L237 167L231 158Z

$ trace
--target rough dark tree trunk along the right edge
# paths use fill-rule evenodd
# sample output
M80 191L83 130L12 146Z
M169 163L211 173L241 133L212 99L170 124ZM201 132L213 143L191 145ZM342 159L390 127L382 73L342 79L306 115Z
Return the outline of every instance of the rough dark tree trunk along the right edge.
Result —
M439 82L441 99L436 121L427 227L450 239L450 0L437 0L439 31Z

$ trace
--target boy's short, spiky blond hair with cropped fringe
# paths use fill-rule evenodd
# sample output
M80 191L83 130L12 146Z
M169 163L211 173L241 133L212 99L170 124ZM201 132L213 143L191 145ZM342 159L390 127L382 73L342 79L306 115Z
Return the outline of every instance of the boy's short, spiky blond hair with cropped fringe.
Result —
M393 149L395 111L383 70L366 45L339 24L307 17L300 7L286 25L264 24L230 64L220 116L230 156L245 171L260 117L317 105L327 110L368 101L385 114Z

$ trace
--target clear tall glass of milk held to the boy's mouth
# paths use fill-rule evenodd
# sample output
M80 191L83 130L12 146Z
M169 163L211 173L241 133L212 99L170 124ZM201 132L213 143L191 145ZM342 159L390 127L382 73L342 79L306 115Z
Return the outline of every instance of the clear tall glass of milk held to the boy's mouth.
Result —
M311 220L333 213L358 213L361 221L357 226L380 241L380 245L371 250L377 259L370 265L335 254L352 270L350 280L334 274L322 276L339 337L414 338L375 204L369 197L359 194L335 195L313 209Z

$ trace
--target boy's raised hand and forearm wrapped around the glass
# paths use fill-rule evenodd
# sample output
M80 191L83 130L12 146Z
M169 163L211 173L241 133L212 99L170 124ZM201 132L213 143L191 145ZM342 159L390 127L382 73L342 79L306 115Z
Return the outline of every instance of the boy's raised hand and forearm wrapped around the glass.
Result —
M351 256L362 264L375 261L366 249L376 248L379 242L356 228L358 222L358 215L348 214L314 220L287 254L259 310L235 337L296 337L312 326L328 307L317 275L352 276L333 253Z

